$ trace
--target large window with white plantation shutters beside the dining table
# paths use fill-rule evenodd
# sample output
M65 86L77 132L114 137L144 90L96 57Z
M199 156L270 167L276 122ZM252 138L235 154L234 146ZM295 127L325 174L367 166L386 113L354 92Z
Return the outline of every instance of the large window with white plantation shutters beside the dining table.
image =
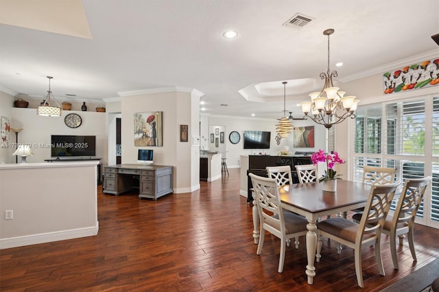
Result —
M431 175L416 222L439 227L439 97L360 106L353 133L354 180L364 165L396 168L396 180Z

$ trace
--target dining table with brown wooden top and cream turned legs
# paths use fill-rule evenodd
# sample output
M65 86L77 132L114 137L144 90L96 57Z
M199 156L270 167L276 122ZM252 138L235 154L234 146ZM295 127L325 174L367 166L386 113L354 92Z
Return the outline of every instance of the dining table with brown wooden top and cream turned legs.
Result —
M350 180L337 180L337 188L334 192L323 191L322 184L319 182L278 186L282 208L302 215L308 220L306 235L308 264L305 271L308 284L313 284L316 276L314 260L318 219L366 206L370 188L370 184ZM253 202L252 216L254 244L257 244L259 242L259 213L256 202Z

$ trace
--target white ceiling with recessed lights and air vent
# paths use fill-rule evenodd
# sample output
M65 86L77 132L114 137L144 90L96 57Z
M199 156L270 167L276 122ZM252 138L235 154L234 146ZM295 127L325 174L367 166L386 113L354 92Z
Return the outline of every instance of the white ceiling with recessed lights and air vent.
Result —
M283 26L296 13L314 20ZM300 115L296 104L308 99L308 88L323 85L327 28L335 29L331 69L342 81L439 55L431 40L439 33L439 0L0 0L0 23L6 93L43 99L47 75L61 101L194 88L206 113L245 117L280 117L284 80L299 84L287 87L287 110ZM227 29L238 37L225 39Z

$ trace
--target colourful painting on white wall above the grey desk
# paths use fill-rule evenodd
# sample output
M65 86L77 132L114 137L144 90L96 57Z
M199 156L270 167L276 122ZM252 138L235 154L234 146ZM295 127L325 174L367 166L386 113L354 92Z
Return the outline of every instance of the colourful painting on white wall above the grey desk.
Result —
M163 146L163 112L134 114L134 146Z

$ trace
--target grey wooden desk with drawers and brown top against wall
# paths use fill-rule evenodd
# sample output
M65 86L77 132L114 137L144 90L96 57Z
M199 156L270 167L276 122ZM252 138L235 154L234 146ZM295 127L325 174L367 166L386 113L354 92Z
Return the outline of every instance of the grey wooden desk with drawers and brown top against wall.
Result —
M139 197L157 199L173 192L171 166L109 165L104 173L103 193L120 195L139 188Z

